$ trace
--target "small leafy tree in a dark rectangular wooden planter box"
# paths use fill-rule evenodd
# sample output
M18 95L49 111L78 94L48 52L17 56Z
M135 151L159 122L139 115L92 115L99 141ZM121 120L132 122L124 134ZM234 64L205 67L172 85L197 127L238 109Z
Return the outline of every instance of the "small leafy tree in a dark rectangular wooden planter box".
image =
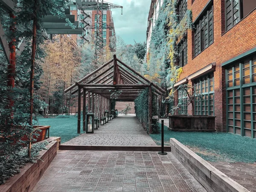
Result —
M195 115L195 98L201 98L202 95L194 87L184 84L177 90L183 93L184 99L179 99L178 105L173 106L169 114L169 129L172 131L215 131L215 116ZM192 106L192 115L180 113L177 110ZM185 110L186 111L186 110Z

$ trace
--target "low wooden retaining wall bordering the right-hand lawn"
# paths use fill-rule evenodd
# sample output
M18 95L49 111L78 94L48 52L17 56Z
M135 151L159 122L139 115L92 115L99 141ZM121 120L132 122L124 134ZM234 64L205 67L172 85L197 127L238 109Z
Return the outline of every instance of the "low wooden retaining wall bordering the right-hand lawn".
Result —
M170 145L172 154L208 192L249 192L176 139L171 138Z

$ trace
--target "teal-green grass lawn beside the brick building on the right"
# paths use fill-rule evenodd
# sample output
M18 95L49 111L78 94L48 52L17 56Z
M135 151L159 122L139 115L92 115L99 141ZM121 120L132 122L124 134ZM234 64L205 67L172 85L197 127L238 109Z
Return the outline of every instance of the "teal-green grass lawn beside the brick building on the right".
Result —
M150 136L161 145L161 133ZM170 138L177 139L205 160L256 162L256 139L229 133L177 132L164 126L165 145L169 145Z

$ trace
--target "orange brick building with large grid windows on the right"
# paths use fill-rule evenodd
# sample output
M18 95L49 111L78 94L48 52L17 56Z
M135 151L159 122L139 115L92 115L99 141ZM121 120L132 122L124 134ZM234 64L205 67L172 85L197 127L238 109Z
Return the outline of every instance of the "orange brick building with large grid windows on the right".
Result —
M256 1L178 0L180 17L187 9L195 29L179 43L184 72L175 87L200 90L195 115L216 116L217 131L256 138ZM179 113L192 114L192 107Z

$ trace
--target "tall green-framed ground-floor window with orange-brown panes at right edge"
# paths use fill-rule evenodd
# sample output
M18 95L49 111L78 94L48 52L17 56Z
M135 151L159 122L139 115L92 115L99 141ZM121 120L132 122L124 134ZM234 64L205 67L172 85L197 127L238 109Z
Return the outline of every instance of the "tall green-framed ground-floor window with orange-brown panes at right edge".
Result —
M256 57L234 64L227 76L227 131L256 138Z

